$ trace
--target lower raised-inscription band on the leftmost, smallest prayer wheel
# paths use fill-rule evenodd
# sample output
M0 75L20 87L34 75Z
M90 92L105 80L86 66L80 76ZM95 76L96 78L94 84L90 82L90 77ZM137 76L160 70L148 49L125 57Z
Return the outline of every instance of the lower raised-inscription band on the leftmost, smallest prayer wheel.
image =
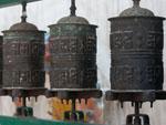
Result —
M23 67L22 67L23 69ZM3 70L3 87L44 87L44 71L12 71Z

